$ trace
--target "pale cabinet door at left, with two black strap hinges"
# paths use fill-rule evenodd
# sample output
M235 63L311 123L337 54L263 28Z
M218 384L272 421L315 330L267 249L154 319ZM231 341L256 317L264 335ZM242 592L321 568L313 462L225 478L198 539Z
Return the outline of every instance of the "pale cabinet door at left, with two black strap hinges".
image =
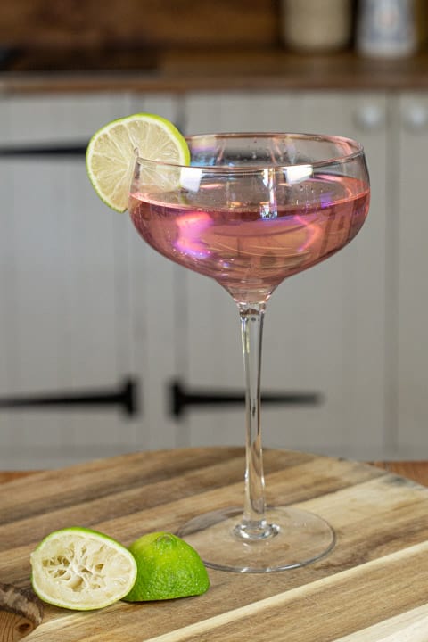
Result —
M4 97L0 146L86 144L104 123L143 110L176 116L167 96ZM153 394L160 374L151 372L158 366L152 333L172 353L168 324L153 321L161 310L173 327L172 268L158 268L126 215L97 198L83 155L2 158L0 167L0 398L113 390L133 375L142 407L135 420L119 408L0 409L0 467L62 465L170 443L168 426L151 432L160 422L148 418L160 396Z

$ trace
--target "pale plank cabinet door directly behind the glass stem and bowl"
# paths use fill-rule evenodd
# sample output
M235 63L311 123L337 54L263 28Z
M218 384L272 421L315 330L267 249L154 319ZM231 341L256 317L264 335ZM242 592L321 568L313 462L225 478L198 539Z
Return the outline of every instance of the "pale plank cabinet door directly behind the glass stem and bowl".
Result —
M262 389L318 392L314 407L263 407L268 446L347 457L381 455L384 427L386 97L337 92L195 94L186 130L317 131L366 147L373 194L357 239L282 284L268 304ZM187 333L180 370L197 391L243 390L235 304L209 279L186 272ZM243 408L190 407L179 426L192 444L243 443Z

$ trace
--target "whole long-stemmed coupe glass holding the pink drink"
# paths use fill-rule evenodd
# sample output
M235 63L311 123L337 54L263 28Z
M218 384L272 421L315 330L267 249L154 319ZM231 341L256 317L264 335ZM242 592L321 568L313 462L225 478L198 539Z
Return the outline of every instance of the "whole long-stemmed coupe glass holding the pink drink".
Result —
M272 572L325 556L335 536L324 519L266 505L260 431L265 308L287 276L357 235L369 203L362 147L339 136L189 136L180 167L137 157L129 213L137 232L185 268L214 278L239 309L246 382L243 507L194 517L178 532L205 564Z

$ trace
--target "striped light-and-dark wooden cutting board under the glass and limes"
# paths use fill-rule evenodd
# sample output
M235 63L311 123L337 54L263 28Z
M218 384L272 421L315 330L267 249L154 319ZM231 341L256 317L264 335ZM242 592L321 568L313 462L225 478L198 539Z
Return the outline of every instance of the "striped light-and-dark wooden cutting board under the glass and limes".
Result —
M316 564L266 575L209 570L200 597L76 613L45 605L36 642L426 642L428 489L374 466L265 452L268 502L298 503L336 531ZM70 525L128 545L240 504L243 450L178 449L36 473L0 487L0 582L29 588L29 553ZM0 640L2 635L0 632Z

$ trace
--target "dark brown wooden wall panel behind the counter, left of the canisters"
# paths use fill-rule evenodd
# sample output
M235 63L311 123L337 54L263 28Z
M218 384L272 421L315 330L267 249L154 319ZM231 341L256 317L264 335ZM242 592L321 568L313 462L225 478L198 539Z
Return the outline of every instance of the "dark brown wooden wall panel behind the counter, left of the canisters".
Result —
M276 0L14 0L0 4L0 45L267 45Z

